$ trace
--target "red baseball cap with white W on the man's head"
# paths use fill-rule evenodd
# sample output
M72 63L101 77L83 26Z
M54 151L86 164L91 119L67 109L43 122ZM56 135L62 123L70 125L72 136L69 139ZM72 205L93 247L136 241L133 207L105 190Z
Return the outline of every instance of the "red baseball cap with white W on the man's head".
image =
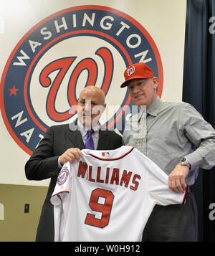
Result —
M124 72L125 82L120 85L121 88L127 86L127 82L135 78L154 77L153 71L143 62L135 63L127 67Z

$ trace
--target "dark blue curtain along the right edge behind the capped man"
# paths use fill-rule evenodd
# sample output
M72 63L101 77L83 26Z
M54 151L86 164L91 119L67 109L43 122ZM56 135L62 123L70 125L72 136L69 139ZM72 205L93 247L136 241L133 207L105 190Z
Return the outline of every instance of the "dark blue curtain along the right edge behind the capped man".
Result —
M183 101L215 128L215 1L187 0ZM214 155L215 158L215 155ZM215 241L215 168L199 170L191 188L199 208L199 240Z

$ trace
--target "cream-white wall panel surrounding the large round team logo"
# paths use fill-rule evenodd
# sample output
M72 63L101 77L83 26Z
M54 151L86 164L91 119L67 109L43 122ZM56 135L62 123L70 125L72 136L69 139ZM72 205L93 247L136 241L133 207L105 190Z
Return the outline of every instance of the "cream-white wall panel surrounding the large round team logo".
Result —
M147 30L161 55L162 99L181 101L186 0L0 0L0 77L9 55L29 29L57 11L88 4L118 9ZM48 181L27 181L25 178L24 164L29 154L16 144L1 115L0 141L1 184L47 186Z

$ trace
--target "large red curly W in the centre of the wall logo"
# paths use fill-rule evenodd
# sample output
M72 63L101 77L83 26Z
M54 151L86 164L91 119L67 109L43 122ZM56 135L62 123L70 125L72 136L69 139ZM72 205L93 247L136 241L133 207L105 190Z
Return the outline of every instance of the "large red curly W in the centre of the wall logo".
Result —
M100 49L97 49L95 54L100 56L104 63L105 72L101 89L106 95L108 93L108 89L110 87L110 83L113 77L113 55L106 47L101 47ZM65 112L58 112L55 108L55 101L57 97L57 92L59 91L59 87L62 84L62 80L64 79L65 75L70 69L70 66L76 58L77 57L64 57L59 60L54 60L46 67L44 67L39 76L40 84L43 87L50 87L49 94L47 96L47 114L52 120L57 122L67 120L75 114L70 113L70 109L66 110ZM52 81L49 78L49 75L56 70L59 70L59 72ZM75 87L78 77L83 70L87 70L88 72L87 82L85 86L95 85L95 82L97 80L98 70L95 60L93 60L92 58L86 58L84 60L81 60L73 69L72 74L70 75L70 80L68 82L67 100L70 107L77 105L77 100L75 98Z

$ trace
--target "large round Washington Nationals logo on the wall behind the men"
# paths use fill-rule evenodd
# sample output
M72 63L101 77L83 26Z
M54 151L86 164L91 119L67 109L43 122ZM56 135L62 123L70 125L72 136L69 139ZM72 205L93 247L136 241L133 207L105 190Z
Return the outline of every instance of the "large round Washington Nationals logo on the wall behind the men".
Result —
M109 106L102 125L122 132L133 103L120 84L125 68L136 62L153 69L161 96L160 54L135 19L105 6L75 6L48 16L24 34L4 67L0 97L7 130L32 154L50 125L77 118L80 91L95 85Z

